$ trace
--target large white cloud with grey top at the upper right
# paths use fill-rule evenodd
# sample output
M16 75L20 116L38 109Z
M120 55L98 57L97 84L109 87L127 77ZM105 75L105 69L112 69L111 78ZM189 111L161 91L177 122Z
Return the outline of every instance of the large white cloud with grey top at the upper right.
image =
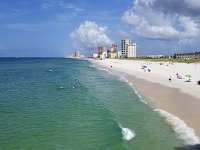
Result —
M199 37L199 24L194 19L190 16L172 15L155 10L153 5L156 1L161 0L136 0L133 8L123 14L122 21L131 26L131 33L139 37L159 40ZM189 2L189 0L185 1Z

